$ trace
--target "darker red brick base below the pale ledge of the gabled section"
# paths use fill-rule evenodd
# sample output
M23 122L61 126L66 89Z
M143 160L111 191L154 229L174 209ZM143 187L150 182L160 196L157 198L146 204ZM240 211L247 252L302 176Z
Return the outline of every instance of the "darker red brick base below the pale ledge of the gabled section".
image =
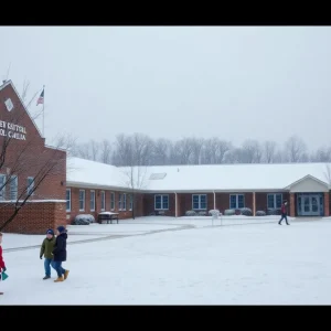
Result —
M3 203L0 204L0 224L2 225L12 215L14 209ZM58 225L65 224L65 203L28 202L2 232L44 234L47 228L55 229Z

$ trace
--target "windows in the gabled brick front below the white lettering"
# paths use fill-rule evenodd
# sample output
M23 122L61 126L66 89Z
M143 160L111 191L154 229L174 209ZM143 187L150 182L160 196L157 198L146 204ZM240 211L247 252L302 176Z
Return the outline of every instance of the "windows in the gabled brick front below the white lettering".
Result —
M33 189L34 189L34 178L28 177L26 194L32 195ZM18 194L19 194L19 178L17 175L11 175L10 179L8 180L6 174L0 174L0 201L3 201L6 199L17 200Z

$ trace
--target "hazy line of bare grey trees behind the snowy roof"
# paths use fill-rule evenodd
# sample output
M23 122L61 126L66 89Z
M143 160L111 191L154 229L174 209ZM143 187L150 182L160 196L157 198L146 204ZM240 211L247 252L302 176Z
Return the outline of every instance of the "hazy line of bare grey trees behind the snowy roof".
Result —
M289 137L284 145L273 140L246 139L241 146L235 146L218 137L185 137L172 141L152 139L143 134L120 134L114 141L92 139L76 142L70 153L118 167L331 162L331 146L309 151L305 140L298 136Z

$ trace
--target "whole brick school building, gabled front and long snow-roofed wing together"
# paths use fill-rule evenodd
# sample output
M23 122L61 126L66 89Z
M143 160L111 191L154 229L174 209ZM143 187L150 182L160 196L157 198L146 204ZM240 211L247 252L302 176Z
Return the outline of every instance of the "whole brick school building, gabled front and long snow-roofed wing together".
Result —
M44 234L49 227L71 224L78 214L97 220L100 212L115 212L119 220L130 218L132 205L137 217L180 217L215 209L222 213L249 209L254 216L277 213L287 200L290 216L330 215L331 164L131 169L68 158L45 146L11 81L0 85L0 228L18 211L3 232ZM56 171L43 179L50 164Z

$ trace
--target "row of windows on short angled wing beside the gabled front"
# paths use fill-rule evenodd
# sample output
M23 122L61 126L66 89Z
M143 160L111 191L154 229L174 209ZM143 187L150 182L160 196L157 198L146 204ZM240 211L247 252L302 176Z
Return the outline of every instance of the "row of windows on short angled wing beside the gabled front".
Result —
M79 212L84 212L85 206L85 190L79 190ZM129 195L129 211L132 210L134 200L132 194ZM106 192L100 191L102 205L100 210L104 212L106 210ZM66 189L66 211L70 212L72 210L72 191L71 189ZM115 193L110 192L110 211L115 210ZM127 210L127 194L118 193L118 211ZM95 190L89 191L89 211L95 212Z

